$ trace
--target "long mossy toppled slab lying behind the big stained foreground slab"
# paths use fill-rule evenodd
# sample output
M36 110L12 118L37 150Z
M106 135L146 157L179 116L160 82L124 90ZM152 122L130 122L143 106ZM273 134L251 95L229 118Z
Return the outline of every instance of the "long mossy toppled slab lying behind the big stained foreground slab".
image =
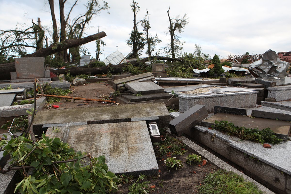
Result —
M77 114L76 114L77 113ZM159 117L158 127L168 127L170 115L164 103L124 104L118 106L64 108L39 111L33 120L35 134L42 134L44 124L87 122L102 124L129 122L137 117Z

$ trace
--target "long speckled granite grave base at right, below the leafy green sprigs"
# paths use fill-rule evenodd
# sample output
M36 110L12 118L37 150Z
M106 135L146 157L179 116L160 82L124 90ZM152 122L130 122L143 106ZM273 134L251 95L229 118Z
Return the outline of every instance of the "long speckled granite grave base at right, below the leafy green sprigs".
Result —
M278 193L286 193L285 188L288 188L288 180L291 178L290 141L271 144L272 148L267 149L260 143L240 140L219 130L200 125L196 125L191 132L187 135L194 140L248 170L252 175L258 176Z

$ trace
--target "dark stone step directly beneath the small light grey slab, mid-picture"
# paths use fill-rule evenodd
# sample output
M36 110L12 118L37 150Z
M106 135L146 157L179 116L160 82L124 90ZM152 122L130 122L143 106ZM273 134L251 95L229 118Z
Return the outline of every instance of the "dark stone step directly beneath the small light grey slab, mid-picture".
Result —
M167 94L165 92L156 93L156 94L145 94L142 96L136 96L132 94L122 94L121 97L128 100L129 102L141 102L141 101L148 101L148 100L175 98L175 96L173 96L172 94Z

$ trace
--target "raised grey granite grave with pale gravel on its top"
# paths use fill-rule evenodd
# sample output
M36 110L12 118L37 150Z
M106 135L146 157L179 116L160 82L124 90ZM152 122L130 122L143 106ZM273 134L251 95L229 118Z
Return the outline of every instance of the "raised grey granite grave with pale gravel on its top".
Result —
M170 93L172 90L174 90L176 95L179 95L179 111L181 113L187 111L195 104L205 105L208 113L214 112L214 106L255 107L258 93L249 88L204 84L166 88L165 92Z

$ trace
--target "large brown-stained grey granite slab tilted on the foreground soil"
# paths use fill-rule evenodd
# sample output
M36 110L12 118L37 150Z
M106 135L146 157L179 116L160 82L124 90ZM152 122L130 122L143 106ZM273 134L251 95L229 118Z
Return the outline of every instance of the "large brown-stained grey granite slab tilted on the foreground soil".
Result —
M111 172L132 175L153 175L158 172L157 159L145 121L68 126L58 129L59 132L54 132L49 128L46 136L61 138L75 151L88 152L93 157L104 155Z

